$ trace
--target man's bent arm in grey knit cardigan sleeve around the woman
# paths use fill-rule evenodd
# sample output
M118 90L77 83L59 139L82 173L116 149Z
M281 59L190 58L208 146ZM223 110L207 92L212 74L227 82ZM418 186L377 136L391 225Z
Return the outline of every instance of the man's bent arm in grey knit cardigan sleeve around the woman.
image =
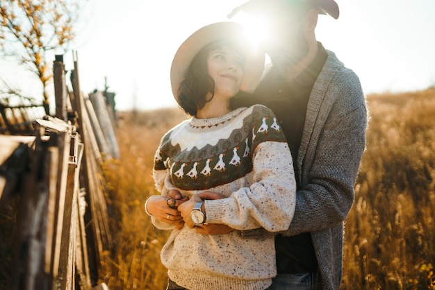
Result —
M296 210L288 231L291 236L314 232L343 222L354 202L354 185L366 148L367 110L362 99L356 108L333 108L322 128L309 182L297 192ZM302 169L303 171L304 169Z

